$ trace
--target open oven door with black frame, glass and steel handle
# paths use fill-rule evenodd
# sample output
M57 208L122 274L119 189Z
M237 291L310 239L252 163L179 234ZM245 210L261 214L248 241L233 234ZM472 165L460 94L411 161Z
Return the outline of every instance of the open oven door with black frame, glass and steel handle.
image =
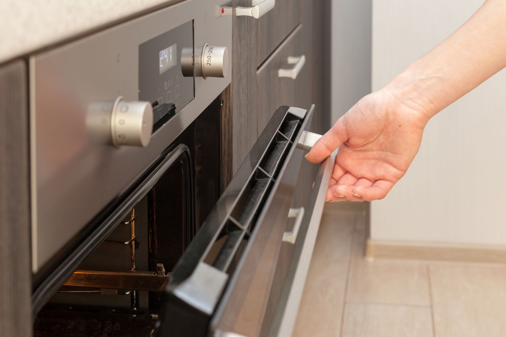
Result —
M320 164L310 202L291 235L285 234L313 110L276 110L174 267L157 336L291 335L337 153ZM294 250L275 317L265 320L266 327L283 237Z

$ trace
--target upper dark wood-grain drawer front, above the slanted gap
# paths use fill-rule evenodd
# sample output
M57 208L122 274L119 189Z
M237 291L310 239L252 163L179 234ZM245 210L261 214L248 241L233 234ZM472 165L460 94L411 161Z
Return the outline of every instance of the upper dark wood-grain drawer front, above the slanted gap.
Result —
M276 0L274 8L258 19L257 67L300 22L299 1Z

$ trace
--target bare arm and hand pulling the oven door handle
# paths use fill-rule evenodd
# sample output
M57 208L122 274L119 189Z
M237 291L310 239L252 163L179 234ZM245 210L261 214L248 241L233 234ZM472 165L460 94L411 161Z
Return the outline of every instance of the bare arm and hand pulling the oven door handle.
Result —
M315 144L320 162L342 145L328 201L384 198L406 173L429 119L506 66L506 1L487 0L453 34L362 98Z

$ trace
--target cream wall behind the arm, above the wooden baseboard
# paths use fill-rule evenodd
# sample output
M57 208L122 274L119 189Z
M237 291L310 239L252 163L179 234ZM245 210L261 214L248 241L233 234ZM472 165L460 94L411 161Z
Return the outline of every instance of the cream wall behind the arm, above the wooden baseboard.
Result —
M465 22L482 0L373 0L372 90ZM506 244L506 71L427 125L407 174L371 203L376 240Z

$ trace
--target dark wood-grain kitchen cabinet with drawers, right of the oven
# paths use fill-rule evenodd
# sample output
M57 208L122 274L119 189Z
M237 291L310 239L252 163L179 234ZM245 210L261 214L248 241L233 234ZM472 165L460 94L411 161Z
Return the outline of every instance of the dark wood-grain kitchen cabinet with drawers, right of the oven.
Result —
M248 1L236 1L236 6L250 5ZM285 6L290 7L289 10L282 10ZM310 131L323 134L329 129L330 2L276 0L274 9L258 21L250 17L234 17L232 39L234 68L230 99L235 172L252 145L248 145L245 140L258 137L280 105L309 109L311 104L315 104ZM258 68L251 66L255 55ZM290 69L294 66L288 64L288 57L302 55L305 57L305 64L296 78L278 77L279 69ZM237 142L236 136L239 137ZM318 166L302 160L292 208L307 206ZM289 219L285 231L290 231L293 223L294 219ZM270 326L276 314L280 289L285 282L294 247L295 245L289 242L281 244L266 307L266 321L258 331L260 336L269 334L266 327Z

